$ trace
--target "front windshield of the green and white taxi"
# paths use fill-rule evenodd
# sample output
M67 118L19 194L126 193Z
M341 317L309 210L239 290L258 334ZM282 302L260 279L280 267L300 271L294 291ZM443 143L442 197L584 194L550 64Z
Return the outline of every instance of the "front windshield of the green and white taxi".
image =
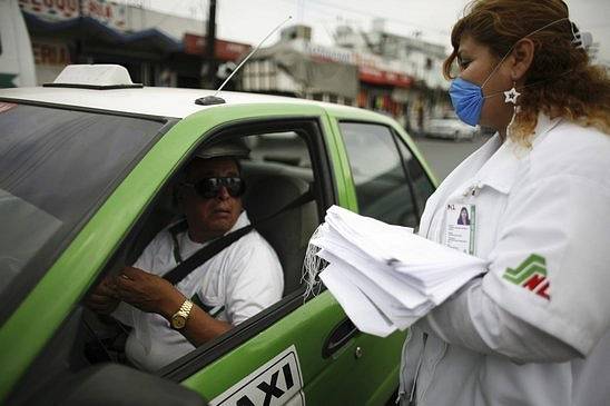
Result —
M36 284L163 127L144 118L0 102L2 303Z

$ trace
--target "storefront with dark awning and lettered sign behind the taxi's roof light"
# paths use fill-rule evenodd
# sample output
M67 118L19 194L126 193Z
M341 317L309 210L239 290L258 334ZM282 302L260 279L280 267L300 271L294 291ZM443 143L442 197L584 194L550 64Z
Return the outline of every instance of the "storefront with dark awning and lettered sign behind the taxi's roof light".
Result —
M183 44L166 33L127 29L127 6L102 0L20 0L38 83L68 63L119 63L136 82L171 85L171 60Z

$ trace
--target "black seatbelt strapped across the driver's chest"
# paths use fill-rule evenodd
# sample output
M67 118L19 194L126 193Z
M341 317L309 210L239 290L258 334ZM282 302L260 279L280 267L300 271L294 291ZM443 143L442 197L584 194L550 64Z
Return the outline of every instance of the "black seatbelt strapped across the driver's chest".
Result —
M194 269L198 268L203 264L205 264L209 258L214 257L216 254L220 252L223 249L232 245L233 242L237 241L239 238L244 237L246 234L252 231L256 228L256 226L264 224L265 221L268 221L291 209L294 209L296 207L303 206L306 202L309 202L314 199L314 194L312 194L311 189L307 189L303 195L297 197L295 200L291 201L286 206L284 206L279 211L273 214L272 216L268 216L267 218L264 218L256 224L250 224L246 227L242 227L233 232L227 234L224 237L219 237L215 240L213 240L207 246L200 248L197 252L193 254L188 259L186 259L183 263L179 263L178 266L174 269L171 269L169 273L164 275L164 279L168 280L171 285L178 285L184 278L186 278L187 275L189 275ZM177 225L173 226L171 229L179 230L184 228L186 225L186 220L178 222ZM170 230L171 230L170 229ZM186 228L185 228L186 229ZM177 261L179 258L179 250L176 250L177 245L177 238L174 238L175 244L175 250L174 255L178 255Z

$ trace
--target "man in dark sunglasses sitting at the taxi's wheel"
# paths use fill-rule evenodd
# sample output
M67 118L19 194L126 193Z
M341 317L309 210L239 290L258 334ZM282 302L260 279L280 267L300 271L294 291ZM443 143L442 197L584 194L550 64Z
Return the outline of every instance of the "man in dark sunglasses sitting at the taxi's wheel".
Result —
M164 229L132 267L106 278L89 297L90 308L114 310L114 317L134 327L126 354L137 367L156 370L282 298L282 266L256 230L176 286L161 278L209 241L249 225L238 162L248 154L239 141L199 151L176 190L188 227Z

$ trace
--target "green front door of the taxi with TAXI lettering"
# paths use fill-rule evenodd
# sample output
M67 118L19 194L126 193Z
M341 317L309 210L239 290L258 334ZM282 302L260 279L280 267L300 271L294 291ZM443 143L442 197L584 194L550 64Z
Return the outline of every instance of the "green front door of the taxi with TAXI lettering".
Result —
M322 110L315 118L284 120L279 127L265 120L257 127L262 131L267 140L291 131L306 139L322 216L332 204L351 205L351 180L341 162L344 155ZM294 174L295 168L288 171ZM213 405L382 404L396 387L403 338L362 335L329 293L305 299L304 290L297 289L163 374L199 392Z

